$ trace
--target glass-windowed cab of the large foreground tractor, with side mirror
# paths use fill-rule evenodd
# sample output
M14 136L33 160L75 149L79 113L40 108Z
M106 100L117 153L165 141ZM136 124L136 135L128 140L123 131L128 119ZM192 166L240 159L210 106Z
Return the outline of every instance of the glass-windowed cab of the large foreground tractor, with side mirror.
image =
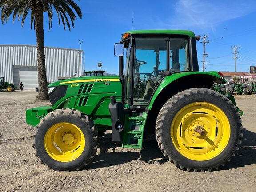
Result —
M196 40L200 37L189 31L179 32L163 30L163 34L157 35L152 30L126 32L121 43L115 44L124 84L123 99L130 108L144 109L164 77L198 71ZM123 52L126 57L124 74Z

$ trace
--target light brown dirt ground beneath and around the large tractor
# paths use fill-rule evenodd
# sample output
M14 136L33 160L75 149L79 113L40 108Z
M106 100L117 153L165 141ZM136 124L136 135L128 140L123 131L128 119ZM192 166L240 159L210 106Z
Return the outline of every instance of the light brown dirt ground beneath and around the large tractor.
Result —
M35 128L26 124L25 111L50 103L35 98L35 92L0 92L0 191L256 192L256 95L236 96L244 111L242 144L230 163L212 172L176 168L160 152L155 136L140 153L116 146L110 134L100 139L86 169L48 170L34 156Z

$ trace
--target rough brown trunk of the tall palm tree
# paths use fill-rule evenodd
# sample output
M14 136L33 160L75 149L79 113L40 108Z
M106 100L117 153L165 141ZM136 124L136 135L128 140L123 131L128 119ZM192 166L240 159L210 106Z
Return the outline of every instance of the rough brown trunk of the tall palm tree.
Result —
M38 70L38 96L37 99L49 99L47 90L47 78L45 69L44 54L44 16L43 11L34 10L35 29L36 29L36 47L37 47L37 70Z

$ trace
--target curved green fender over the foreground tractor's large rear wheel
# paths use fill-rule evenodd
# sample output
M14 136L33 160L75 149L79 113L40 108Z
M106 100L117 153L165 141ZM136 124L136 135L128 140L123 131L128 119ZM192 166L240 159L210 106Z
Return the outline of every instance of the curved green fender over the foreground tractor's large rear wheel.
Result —
M160 93L167 88L169 85L175 85L175 84L181 84L182 86L184 84L191 84L192 82L187 82L188 79L195 79L199 78L201 79L201 83L209 86L209 88L212 86L213 82L224 84L226 83L226 80L223 76L221 76L216 71L210 71L210 72L179 72L179 73L173 73L170 76L164 77L164 79L161 81L161 83L156 88L156 91L154 92L150 104L148 105L148 109L151 110L152 106L156 100L156 98L160 95ZM179 82L178 82L179 81ZM176 85L177 86L177 85ZM181 86L181 87L182 87ZM195 85L196 86L196 85ZM174 86L175 87L175 86ZM196 88L196 87L195 87ZM183 89L184 90L184 89ZM176 94L176 93L175 93Z

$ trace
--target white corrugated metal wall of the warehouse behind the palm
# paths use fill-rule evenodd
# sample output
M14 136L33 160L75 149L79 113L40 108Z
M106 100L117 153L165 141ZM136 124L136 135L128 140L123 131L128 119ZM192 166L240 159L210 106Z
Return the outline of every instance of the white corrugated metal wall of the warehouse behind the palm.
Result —
M58 76L82 76L82 51L77 49L44 47L48 82ZM36 46L0 45L0 76L13 82L12 66L37 66Z

